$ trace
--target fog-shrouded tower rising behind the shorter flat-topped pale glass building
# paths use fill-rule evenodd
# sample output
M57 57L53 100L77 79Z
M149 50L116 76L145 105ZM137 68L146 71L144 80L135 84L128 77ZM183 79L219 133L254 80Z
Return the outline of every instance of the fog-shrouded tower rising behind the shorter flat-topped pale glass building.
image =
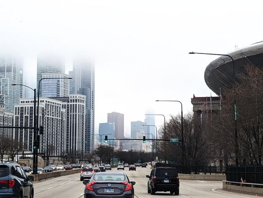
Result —
M37 63L37 91L38 91L38 82L42 78L44 73L65 73L65 61L60 57L51 57L51 56L42 56L38 57ZM41 81L42 82L42 81ZM41 95L41 83L39 84L39 96Z

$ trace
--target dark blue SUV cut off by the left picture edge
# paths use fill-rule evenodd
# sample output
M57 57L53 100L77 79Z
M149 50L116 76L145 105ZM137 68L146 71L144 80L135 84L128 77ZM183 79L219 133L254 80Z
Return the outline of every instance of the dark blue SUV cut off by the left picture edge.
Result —
M33 176L17 163L0 163L0 198L33 198Z

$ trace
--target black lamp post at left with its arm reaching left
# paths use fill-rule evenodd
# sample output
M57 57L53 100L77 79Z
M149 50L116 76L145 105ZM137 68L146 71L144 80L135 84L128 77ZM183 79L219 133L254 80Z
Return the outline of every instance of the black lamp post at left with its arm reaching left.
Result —
M34 91L34 141L37 141L38 138L37 138L37 135L38 135L38 132L37 132L37 124L36 124L36 89L32 89L31 87L28 87L26 85L22 85L22 84L12 84L12 86L24 86L24 87L27 87L31 90ZM38 144L39 145L39 144ZM38 149L34 149L33 148L33 174L38 174Z

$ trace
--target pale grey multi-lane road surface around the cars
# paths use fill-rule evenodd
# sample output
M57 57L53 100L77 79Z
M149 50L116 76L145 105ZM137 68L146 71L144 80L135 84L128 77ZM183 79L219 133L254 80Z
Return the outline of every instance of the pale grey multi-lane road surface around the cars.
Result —
M125 168L130 181L135 181L134 198L166 198L169 192L147 193L146 175L150 175L150 166L137 167L136 171ZM117 171L113 168L112 171ZM122 171L122 170L119 170ZM35 198L84 198L85 185L80 181L79 174L52 178L34 183ZM222 190L222 181L180 180L180 198L255 198L255 195L246 195Z

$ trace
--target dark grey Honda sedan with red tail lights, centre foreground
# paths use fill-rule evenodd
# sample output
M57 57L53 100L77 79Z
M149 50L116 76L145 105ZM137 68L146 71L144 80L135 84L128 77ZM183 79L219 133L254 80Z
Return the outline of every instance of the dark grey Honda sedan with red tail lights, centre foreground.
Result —
M130 181L123 172L98 172L83 184L86 185L84 198L134 198L135 181Z

